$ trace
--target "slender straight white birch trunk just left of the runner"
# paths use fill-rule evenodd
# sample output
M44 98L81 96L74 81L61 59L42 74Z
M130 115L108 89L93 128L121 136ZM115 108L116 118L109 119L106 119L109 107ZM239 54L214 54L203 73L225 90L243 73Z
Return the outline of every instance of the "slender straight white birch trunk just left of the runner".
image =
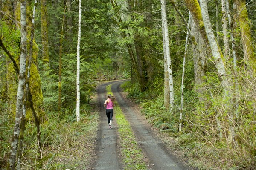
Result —
M78 20L78 38L77 38L77 71L76 71L76 121L80 121L80 42L81 42L81 17L82 0L79 0L79 20ZM89 99L88 99L89 100Z

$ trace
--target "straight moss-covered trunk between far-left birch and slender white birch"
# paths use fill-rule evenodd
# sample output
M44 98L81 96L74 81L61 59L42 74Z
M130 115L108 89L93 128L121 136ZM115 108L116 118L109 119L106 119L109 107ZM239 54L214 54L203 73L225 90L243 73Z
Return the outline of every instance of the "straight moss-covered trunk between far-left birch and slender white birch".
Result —
M49 44L48 44L48 24L47 24L47 0L41 1L41 36L42 36L42 57L44 67L49 67Z

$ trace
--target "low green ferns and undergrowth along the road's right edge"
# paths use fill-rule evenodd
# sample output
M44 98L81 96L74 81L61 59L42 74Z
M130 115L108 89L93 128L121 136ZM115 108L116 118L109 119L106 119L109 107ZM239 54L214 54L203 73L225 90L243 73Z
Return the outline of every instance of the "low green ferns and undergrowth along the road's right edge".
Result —
M245 125L240 126L244 129L236 132L238 137L241 136L237 140L240 142L238 147L228 145L226 140L218 137L217 128L214 127L214 107L203 109L191 90L184 92L182 132L178 132L180 112L177 106L180 105L180 98L175 97L176 109L171 114L163 105L163 89L162 93L158 93L160 87L154 86L154 82L145 92L140 92L138 84L128 81L121 87L127 92L128 98L139 104L140 112L148 122L159 129L161 133L158 134L163 142L172 150L177 150L182 158L188 160L190 166L200 170L255 169L255 126L247 126L246 129ZM180 96L178 90L175 90L175 96ZM204 97L207 99L207 96ZM222 106L221 100L219 103L217 101L213 106Z

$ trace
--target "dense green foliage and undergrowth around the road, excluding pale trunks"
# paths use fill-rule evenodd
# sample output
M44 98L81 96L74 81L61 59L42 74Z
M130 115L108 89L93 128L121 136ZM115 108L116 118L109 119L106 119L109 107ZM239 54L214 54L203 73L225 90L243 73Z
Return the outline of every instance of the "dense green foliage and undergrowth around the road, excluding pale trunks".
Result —
M173 1L185 20L189 18L188 9L198 2ZM199 33L202 33L199 29L204 29L204 23L201 22L200 28L197 28L195 18L190 27L195 37L190 37L186 52L183 94L180 86L187 29L172 3L166 2L175 93L175 107L169 112L164 104L166 75L160 1L82 0L79 123L75 123L78 1L39 1L36 4L35 37L31 40L34 65L30 87L41 121L43 155L38 155L35 117L28 109L23 164L35 169L65 169L58 161L72 152L73 142L82 137L88 139L88 135L96 133L92 130L96 130L98 116L92 109L95 106L92 106L91 100L98 81L131 78L131 82L124 85L128 96L140 104L143 114L154 126L169 136L166 141L173 138L178 141L173 147L183 150L191 158L191 165L200 169L254 169L256 1L224 1L230 3L232 17L227 35L224 33L221 1L208 0L207 6L221 54L226 50L224 38L229 40L229 53L220 59L224 61L227 75L220 76L211 47L205 44L205 37L203 40L199 38ZM236 5L241 5L240 2L246 6L239 11L241 6ZM20 59L19 4L20 0L0 0L0 39L16 63ZM27 1L28 43L33 6L34 2ZM200 11L196 12L201 14ZM245 42L244 37L248 35L251 38ZM247 49L254 51L247 52ZM236 64L233 62L233 52L237 56ZM223 86L223 79L228 80L226 86ZM18 75L13 63L0 48L0 168L8 164L15 122L17 82ZM184 98L183 109L180 109L181 95ZM25 105L30 107L29 103ZM181 110L183 118L180 121ZM180 122L182 131L178 132ZM89 145L92 143L88 141ZM64 148L67 148L67 153L63 151ZM24 168L29 169L29 166Z

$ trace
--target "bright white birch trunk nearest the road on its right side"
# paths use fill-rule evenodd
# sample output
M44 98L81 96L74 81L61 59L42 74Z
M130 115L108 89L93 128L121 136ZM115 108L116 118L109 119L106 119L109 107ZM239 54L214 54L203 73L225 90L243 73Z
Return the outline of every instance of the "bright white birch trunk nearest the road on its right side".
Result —
M173 77L172 77L172 64L171 64L171 55L170 55L170 47L169 47L169 33L168 33L168 24L166 18L166 2L165 0L161 0L161 14L162 14L162 22L163 22L163 34L164 34L164 46L166 49L166 59L167 59L167 69L169 76L169 97L170 97L170 112L174 107L174 88L173 88Z

